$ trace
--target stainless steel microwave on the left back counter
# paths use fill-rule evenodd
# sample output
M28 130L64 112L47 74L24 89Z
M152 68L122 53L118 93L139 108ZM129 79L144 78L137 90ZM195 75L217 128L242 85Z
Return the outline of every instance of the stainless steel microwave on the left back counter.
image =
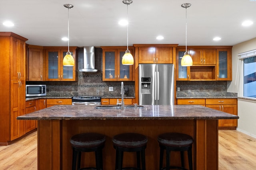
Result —
M26 85L27 96L46 96L46 85Z

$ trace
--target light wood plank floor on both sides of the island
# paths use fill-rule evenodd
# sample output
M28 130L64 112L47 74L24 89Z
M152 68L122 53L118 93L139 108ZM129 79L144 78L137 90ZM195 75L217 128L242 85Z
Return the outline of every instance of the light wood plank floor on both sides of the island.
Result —
M0 146L1 170L37 169L37 132ZM219 131L219 170L256 170L256 139L239 131Z

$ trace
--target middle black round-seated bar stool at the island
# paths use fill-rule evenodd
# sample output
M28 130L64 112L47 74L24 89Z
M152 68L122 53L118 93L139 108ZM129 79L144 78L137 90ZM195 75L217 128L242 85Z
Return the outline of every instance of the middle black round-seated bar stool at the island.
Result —
M138 133L122 133L116 135L112 139L114 143L114 149L116 149L116 170L141 170L140 160L142 164L142 170L146 170L145 161L145 149L148 142L146 136ZM123 164L123 153L124 152L136 152L137 167L126 167L122 168Z

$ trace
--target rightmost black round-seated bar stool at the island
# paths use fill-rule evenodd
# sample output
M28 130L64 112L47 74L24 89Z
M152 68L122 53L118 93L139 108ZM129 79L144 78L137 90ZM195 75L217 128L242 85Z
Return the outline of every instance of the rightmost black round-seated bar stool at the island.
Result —
M184 168L184 151L188 152L189 170L193 169L192 166L192 143L193 138L190 135L183 133L164 133L158 136L158 143L160 146L160 166L159 170L170 169L183 169ZM163 168L163 156L166 150L166 168ZM180 151L181 167L170 166L170 152Z

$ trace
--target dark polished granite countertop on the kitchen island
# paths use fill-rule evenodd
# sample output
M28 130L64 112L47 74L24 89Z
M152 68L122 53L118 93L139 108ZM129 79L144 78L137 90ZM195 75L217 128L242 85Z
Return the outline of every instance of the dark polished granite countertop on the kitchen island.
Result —
M95 106L56 105L21 115L18 120L150 120L238 119L236 115L196 105L144 105L142 109L95 109Z

